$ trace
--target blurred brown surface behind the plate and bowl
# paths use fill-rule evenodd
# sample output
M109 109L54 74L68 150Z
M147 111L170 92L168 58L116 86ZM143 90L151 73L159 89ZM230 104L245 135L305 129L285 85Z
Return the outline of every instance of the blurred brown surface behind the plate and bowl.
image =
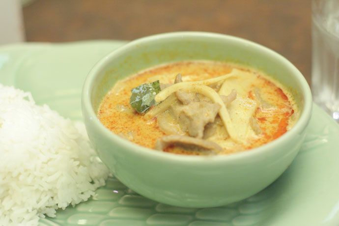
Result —
M311 83L310 0L23 0L22 5L28 42L218 32L275 50Z

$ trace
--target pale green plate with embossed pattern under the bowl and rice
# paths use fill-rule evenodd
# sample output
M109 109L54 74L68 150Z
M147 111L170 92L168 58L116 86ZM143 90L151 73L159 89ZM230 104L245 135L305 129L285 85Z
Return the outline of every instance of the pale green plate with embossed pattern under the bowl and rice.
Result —
M37 104L82 120L90 68L123 41L0 46L0 83L30 91ZM141 197L113 176L91 200L58 210L40 226L338 226L339 125L317 105L302 149L265 190L218 208L180 208Z

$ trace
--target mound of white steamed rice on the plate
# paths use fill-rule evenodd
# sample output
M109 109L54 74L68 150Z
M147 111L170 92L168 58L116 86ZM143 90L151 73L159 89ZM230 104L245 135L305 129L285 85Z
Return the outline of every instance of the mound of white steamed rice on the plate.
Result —
M1 84L0 158L1 226L37 226L93 196L108 176L82 123Z

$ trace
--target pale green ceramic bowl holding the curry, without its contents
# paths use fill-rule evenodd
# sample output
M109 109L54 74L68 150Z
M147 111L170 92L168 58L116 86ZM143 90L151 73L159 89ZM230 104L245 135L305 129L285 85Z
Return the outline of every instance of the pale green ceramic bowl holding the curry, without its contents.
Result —
M225 156L183 156L121 139L98 120L98 105L113 84L147 67L178 60L233 61L279 80L301 111L279 139ZM267 187L297 155L311 117L311 91L287 59L241 38L205 32L174 32L132 41L101 59L89 72L82 109L90 141L123 184L147 198L175 206L212 207L248 198Z

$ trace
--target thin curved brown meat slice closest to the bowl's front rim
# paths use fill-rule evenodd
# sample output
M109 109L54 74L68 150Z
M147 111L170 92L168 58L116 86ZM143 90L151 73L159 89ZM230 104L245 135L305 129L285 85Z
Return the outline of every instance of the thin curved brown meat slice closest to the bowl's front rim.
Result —
M164 150L166 147L172 144L189 144L198 146L207 150L217 150L222 151L223 148L219 146L217 143L212 141L205 141L198 138L192 138L187 136L179 136L179 135L169 135L162 138L159 138L155 144L155 149Z

